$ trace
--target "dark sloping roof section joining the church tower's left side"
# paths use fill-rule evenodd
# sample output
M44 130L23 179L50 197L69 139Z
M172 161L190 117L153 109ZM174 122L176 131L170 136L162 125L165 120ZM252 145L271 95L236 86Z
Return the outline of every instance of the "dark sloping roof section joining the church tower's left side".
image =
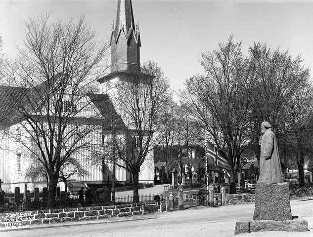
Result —
M112 115L116 114L116 110L113 107L112 101L110 100L110 97L107 94L88 94L91 102L94 104L94 106L99 110L99 112L102 115L102 118L104 119L104 127L109 128L112 124L112 118L114 117ZM123 119L121 116L116 116L116 128L117 129L125 129L125 123L123 122Z

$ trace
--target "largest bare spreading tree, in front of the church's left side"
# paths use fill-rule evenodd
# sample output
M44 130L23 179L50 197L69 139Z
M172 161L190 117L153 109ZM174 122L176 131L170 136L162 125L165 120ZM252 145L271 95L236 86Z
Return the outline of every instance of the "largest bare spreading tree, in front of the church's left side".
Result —
M56 23L48 15L31 18L26 29L25 48L11 66L12 79L25 90L21 98L12 95L18 106L8 122L20 122L19 142L45 168L51 208L62 167L101 141L102 120L89 94L107 69L108 43L96 40L84 17Z

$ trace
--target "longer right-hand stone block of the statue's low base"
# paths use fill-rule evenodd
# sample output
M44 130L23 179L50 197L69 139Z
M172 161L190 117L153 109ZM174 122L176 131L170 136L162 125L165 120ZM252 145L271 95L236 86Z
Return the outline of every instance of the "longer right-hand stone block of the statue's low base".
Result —
M261 220L250 221L250 231L308 231L308 222L303 218L295 218L293 220L274 221Z

